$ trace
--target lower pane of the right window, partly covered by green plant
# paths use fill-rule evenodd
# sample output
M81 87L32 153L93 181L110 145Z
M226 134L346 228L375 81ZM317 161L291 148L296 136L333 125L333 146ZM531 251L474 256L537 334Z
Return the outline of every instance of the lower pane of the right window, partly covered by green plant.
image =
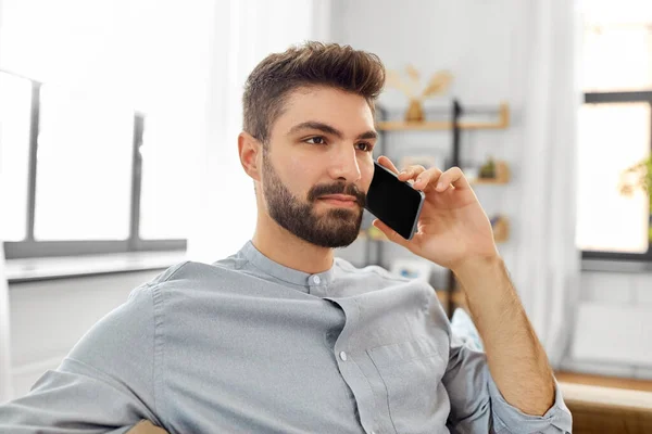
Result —
M648 251L649 200L619 192L623 171L650 155L650 104L585 104L579 116L577 245Z

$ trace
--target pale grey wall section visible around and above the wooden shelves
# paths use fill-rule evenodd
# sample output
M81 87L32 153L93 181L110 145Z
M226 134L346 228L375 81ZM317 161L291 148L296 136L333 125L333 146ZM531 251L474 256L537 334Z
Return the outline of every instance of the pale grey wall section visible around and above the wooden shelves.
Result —
M436 111L436 116L448 118L452 97L460 99L464 106L486 106L498 108L506 101L514 103L517 95L510 87L510 64L517 49L513 42L513 30L509 26L512 17L504 13L510 1L457 1L427 2L409 0L361 0L348 2L336 0L333 3L331 35L336 42L349 43L380 56L390 69L403 69L413 64L424 76L424 80L440 69L449 69L454 75L450 92L427 102L426 107ZM478 43L481 40L482 43ZM478 71L481 74L478 74ZM388 107L390 116L401 117L406 98L399 91L388 89L380 103ZM516 119L517 120L517 119ZM487 156L494 156L517 167L521 145L512 139L512 130L462 131L462 164L479 163ZM404 156L434 153L444 165L452 142L450 131L391 132L386 136L383 153L396 163ZM377 155L376 155L377 156ZM518 174L513 176L517 178ZM502 213L510 216L512 225L517 225L516 196L512 186L478 186L476 193L489 215ZM518 229L518 227L515 227ZM364 246L356 242L342 250L339 255L362 265ZM383 265L391 266L397 257L412 256L393 245L383 246ZM500 245L501 254L507 261L513 260L513 243ZM432 284L446 285L446 272L435 267Z

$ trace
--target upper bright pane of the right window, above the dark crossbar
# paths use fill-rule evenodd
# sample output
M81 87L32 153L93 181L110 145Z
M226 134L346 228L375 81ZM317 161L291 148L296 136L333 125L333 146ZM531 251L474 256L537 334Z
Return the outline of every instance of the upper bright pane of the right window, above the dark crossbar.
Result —
M648 25L587 28L585 91L652 89L652 31Z

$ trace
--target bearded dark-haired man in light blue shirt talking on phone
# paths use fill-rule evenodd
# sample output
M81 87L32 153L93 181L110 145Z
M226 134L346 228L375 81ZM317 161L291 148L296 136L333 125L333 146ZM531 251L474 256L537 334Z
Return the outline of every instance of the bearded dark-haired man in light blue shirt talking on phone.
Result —
M374 224L454 271L486 355L453 339L429 285L334 256L360 230L384 82L378 58L350 47L309 42L263 60L238 137L258 202L252 240L134 290L29 395L0 407L0 432L123 433L140 419L171 433L570 432L459 168L399 175L426 194L412 241Z

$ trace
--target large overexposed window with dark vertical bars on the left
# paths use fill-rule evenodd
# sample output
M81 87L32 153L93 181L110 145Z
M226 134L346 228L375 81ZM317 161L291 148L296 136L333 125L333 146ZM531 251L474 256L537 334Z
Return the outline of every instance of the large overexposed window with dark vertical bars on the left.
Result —
M211 8L3 1L8 258L186 248L188 151L201 140Z

